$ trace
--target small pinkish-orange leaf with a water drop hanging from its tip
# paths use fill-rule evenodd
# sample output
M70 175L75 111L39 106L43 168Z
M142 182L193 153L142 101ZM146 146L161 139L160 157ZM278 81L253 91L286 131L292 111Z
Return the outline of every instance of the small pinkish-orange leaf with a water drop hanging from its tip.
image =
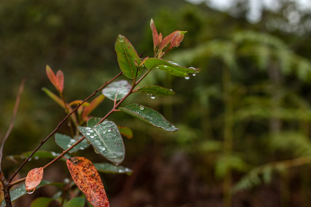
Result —
M28 193L33 193L43 178L43 168L34 168L27 174L25 185Z

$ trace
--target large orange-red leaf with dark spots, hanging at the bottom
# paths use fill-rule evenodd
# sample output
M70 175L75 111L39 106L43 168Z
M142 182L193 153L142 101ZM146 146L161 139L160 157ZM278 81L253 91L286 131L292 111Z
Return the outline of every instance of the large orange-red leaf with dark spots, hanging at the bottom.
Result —
M90 160L84 157L67 159L73 181L94 207L109 207L109 201L100 176Z

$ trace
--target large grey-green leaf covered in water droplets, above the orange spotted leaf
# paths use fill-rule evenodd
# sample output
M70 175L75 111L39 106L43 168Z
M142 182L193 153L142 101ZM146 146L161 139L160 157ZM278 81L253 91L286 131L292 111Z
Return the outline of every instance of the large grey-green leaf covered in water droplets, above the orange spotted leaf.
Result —
M121 164L125 156L123 140L117 125L105 121L95 127L78 127L93 147L112 163Z

